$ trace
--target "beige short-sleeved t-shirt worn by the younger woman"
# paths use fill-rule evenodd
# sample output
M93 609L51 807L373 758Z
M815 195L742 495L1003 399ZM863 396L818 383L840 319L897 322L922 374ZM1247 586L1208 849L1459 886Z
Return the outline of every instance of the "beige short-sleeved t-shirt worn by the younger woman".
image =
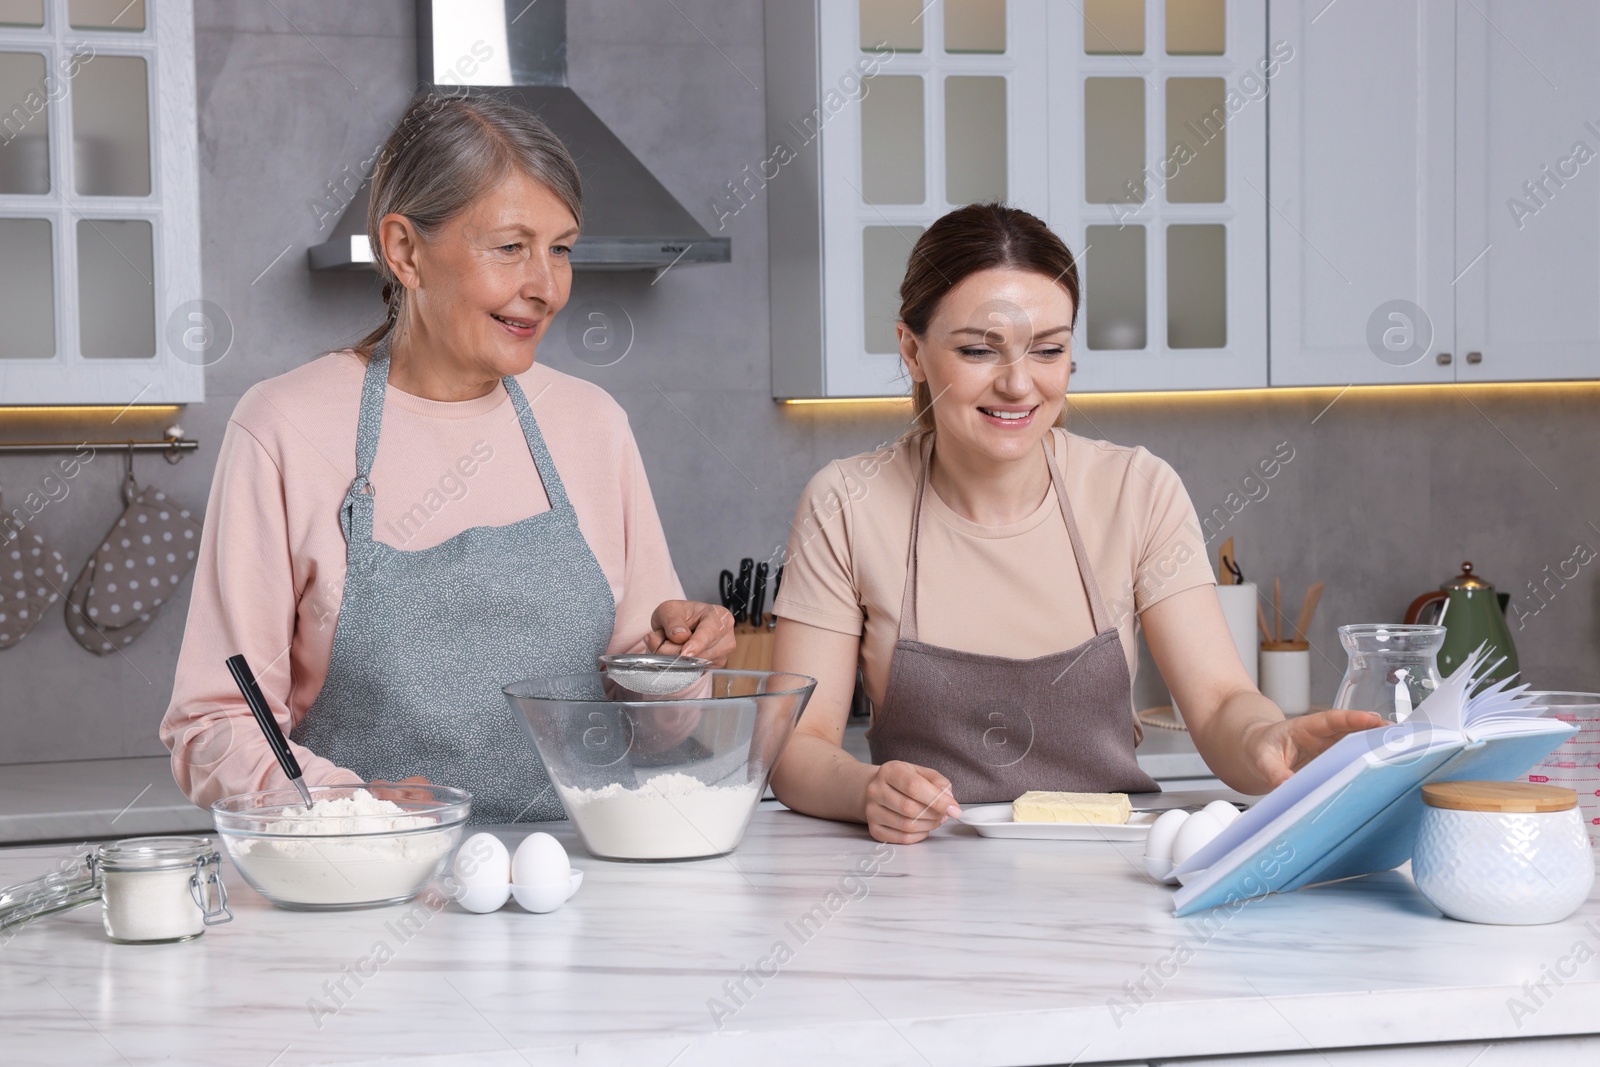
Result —
M1216 582L1200 522L1166 461L1059 429L1053 437L1131 678L1138 613ZM786 619L862 635L861 667L874 707L883 705L899 635L920 467L912 440L819 470L800 499L773 606ZM920 641L1030 659L1096 633L1054 488L1027 518L982 526L957 515L930 486L918 558Z

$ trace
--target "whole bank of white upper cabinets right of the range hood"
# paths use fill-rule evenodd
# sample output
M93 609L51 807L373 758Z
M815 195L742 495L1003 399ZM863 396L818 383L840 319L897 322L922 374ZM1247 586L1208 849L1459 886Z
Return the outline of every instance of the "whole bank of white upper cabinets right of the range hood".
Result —
M968 16L1003 46L944 48ZM1538 0L773 0L773 395L906 392L904 256L979 198L963 77L984 192L1080 258L1077 392L1600 378L1597 46Z

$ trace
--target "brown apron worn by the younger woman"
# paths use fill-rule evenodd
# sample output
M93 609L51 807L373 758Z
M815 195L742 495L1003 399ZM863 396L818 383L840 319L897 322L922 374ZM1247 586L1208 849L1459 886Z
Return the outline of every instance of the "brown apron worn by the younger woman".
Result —
M1072 520L1053 443L1053 435L1045 438L1045 461L1096 637L1064 653L1010 659L917 640L917 534L933 451L931 435L923 438L899 640L867 742L874 763L904 760L939 771L958 803L1011 801L1030 789L1160 792L1133 755L1128 661Z

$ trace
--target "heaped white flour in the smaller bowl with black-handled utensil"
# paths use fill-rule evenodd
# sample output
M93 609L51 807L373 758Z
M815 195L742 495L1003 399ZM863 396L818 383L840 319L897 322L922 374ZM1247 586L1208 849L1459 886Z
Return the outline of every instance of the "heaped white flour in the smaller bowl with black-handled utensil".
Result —
M414 894L450 851L450 830L400 837L338 837L384 833L435 825L434 816L406 814L390 801L357 789L349 797L318 800L283 809L264 833L290 838L232 837L234 862L256 888L286 904L370 904Z

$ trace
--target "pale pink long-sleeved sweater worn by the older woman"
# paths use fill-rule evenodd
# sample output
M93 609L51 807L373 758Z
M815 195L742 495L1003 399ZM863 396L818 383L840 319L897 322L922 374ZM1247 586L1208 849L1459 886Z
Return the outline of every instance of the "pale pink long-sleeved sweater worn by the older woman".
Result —
M259 382L222 437L162 720L173 777L197 805L286 785L224 661L246 656L285 734L322 689L344 587L339 506L355 477L363 371L344 350ZM517 381L611 584L610 651L642 651L651 613L683 590L627 414L600 387L538 363ZM504 389L446 403L390 386L371 480L373 536L397 549L549 509ZM293 747L307 782L358 781Z

